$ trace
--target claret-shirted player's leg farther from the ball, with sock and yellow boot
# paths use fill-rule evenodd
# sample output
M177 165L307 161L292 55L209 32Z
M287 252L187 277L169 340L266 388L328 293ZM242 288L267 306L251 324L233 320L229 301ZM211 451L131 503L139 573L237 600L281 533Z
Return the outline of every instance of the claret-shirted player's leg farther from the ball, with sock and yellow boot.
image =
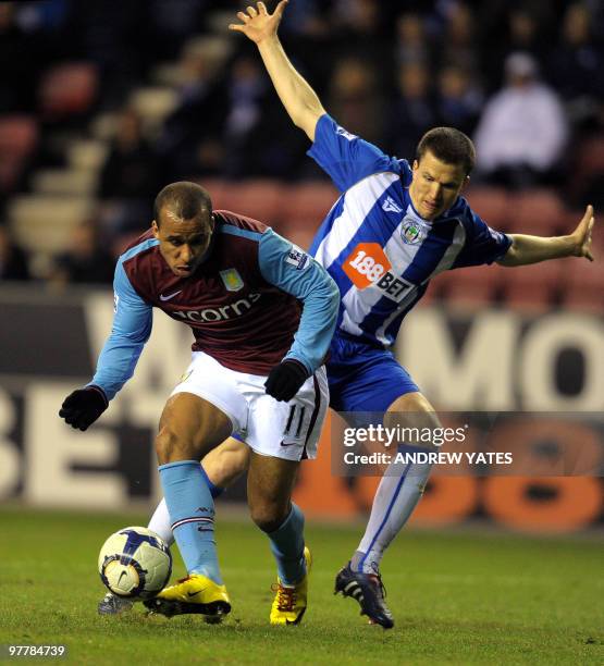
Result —
M254 522L267 533L278 565L272 625L297 625L307 605L310 553L304 544L304 515L292 502L299 462L251 454L247 496Z

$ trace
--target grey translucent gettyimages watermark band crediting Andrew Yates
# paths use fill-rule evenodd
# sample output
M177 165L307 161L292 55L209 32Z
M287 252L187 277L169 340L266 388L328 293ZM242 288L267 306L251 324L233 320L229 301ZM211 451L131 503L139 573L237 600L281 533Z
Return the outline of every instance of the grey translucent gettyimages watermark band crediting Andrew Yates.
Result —
M331 422L336 476L439 473L604 476L601 412L340 412Z

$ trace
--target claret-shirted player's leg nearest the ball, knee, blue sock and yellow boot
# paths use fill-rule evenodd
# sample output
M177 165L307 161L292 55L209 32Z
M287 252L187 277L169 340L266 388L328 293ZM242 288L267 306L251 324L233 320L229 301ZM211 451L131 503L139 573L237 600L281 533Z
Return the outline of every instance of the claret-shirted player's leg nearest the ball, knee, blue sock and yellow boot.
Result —
M156 449L172 530L188 571L145 605L163 615L231 610L218 566L213 499L199 460L232 431L230 418L190 393L172 396L163 410Z

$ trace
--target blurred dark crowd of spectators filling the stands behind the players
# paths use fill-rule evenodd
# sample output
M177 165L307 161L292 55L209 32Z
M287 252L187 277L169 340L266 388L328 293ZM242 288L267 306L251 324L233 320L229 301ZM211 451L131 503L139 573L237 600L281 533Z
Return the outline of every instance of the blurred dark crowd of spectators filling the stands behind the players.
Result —
M225 29L245 4L0 3L0 118L38 112L41 137L15 177L2 180L0 152L0 221L35 170L61 165L53 149L61 133L85 135L100 113L115 119L95 196L116 212L110 223L82 221L50 280L110 282L107 234L145 229L168 182L324 177L252 45ZM476 141L474 182L553 187L569 205L604 203L604 174L580 165L581 151L604 133L601 0L291 0L281 35L328 111L386 152L412 159L427 130L453 125ZM94 101L66 118L45 115L45 69L66 61L94 65ZM128 100L162 63L173 65L177 101L149 128ZM0 225L0 278L27 275L26 257Z

